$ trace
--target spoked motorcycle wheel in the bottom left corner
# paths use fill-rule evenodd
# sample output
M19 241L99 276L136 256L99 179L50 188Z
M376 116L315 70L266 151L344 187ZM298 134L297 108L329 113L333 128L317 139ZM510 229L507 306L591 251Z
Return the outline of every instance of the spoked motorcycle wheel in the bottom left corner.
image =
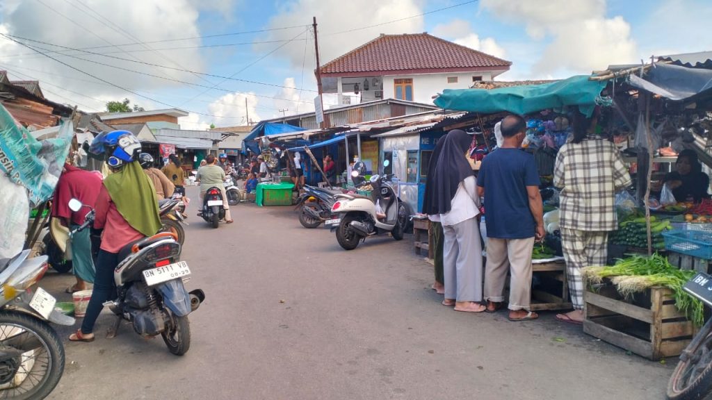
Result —
M64 372L64 347L46 322L16 312L0 312L0 398L44 399Z

